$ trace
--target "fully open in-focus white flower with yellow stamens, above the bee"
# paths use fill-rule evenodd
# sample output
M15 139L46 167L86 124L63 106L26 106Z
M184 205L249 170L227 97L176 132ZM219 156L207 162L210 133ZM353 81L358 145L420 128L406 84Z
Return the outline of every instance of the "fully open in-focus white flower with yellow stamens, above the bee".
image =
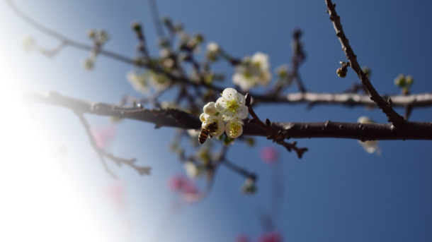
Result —
M216 101L216 110L222 115L223 121L246 119L249 111L246 107L244 95L234 88L225 88L222 97Z

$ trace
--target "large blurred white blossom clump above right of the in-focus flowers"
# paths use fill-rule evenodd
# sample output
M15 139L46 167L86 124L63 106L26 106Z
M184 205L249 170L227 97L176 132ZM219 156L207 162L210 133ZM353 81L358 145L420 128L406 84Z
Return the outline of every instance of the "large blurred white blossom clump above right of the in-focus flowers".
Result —
M235 67L232 82L241 87L241 90L249 90L256 85L267 85L271 80L270 63L268 55L257 52L254 56L246 56Z

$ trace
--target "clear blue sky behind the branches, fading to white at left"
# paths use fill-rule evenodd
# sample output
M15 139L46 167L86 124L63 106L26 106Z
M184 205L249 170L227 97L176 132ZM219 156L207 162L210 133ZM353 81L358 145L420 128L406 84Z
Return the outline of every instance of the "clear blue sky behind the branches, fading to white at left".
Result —
M79 42L90 44L86 30L104 28L112 37L106 49L127 56L135 54L136 40L130 23L138 20L144 24L150 53L159 53L147 1L14 2L47 28ZM378 92L399 93L393 84L399 73L414 76L411 92L431 92L432 16L429 1L335 3L360 65L369 66L373 71L371 80ZM233 56L242 58L255 52L268 54L272 70L290 62L291 33L300 28L304 32L302 42L307 53L307 61L301 66L300 73L308 90L341 92L358 82L351 71L345 79L336 76L339 61L346 59L326 13L324 0L161 0L157 4L161 16L183 23L187 32L203 33L205 40L219 43ZM88 72L82 68L81 60L89 53L78 49L64 49L52 59L38 53L25 53L21 42L28 35L47 48L55 47L58 42L23 22L4 1L0 1L0 16L0 82L6 92L7 88L17 93L55 90L72 97L110 103L117 102L124 94L139 95L125 78L132 66L99 56L96 68ZM232 69L227 66L219 68L227 77L232 75ZM225 84L232 86L229 78ZM292 87L289 92L297 92L297 88ZM379 110L362 107L319 106L307 110L305 105L281 104L256 111L259 116L272 121L356 122L359 116L366 115L380 123L386 122ZM404 113L402 109L397 111ZM125 184L125 207L116 210L101 195L113 181L91 150L76 116L64 109L45 106L33 108L32 114L37 123L35 127L38 127L36 133L45 143L43 147L48 150L59 145L68 147L68 153L59 160L58 167L70 184L60 188L74 187L74 204L84 207L86 216L97 224L99 236L113 241L152 241L155 238L164 241L234 241L238 234L246 234L255 241L263 233L257 215L260 211L271 210L271 175L275 172L258 158L260 147L273 145L265 138L258 138L255 148L236 144L228 153L231 161L258 174L256 195L240 193L244 179L221 167L206 200L185 205L172 214L169 211L176 197L166 189L166 181L172 174L184 173L176 156L168 152L174 130L154 130L149 123L123 121L109 151L123 157L136 157L140 164L152 166L153 171L152 176L141 177L127 167L118 168L110 163ZM88 118L93 126L108 123L104 117ZM411 120L432 121L431 108L415 109ZM431 141L384 141L380 143L381 156L364 152L356 140L297 141L300 146L309 148L302 159L274 146L280 151L278 171L283 176L284 190L283 209L276 228L283 234L284 241L432 240ZM28 152L25 148L19 151ZM42 194L52 199L54 194L55 197L55 190L50 186L56 182L42 183L48 186L31 185L40 184L40 176L22 171L28 171L29 166L37 167L40 159L35 156L23 162L20 157L13 155L11 159L16 176L2 182L10 192L6 197L11 200L6 204L13 205L12 211L16 211L10 217L27 218L30 222L22 225L23 231L27 231L46 215L31 213L38 210L38 206L45 204L46 216L56 218L46 205L50 202L45 203L44 197L38 196ZM40 193L32 195L33 188L41 189ZM18 190L23 194L18 197L21 202L13 202ZM28 197L38 198L39 203L35 205L33 201L32 205L32 199ZM67 216L57 216L59 222L68 220ZM39 224L45 228L39 236L43 236L43 231L50 231L47 229L50 225L57 224L57 220L47 221L47 227ZM119 229L124 223L132 224L132 231ZM72 225L63 229L65 233L74 231Z

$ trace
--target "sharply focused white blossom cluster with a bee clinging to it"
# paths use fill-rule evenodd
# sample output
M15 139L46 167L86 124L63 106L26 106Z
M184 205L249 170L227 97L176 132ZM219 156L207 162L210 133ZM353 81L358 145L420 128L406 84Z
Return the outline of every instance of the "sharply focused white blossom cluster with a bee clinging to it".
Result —
M246 99L234 88L226 88L221 95L216 102L209 102L203 107L201 127L212 136L222 135L225 131L229 138L237 138L243 133L242 119L249 114Z

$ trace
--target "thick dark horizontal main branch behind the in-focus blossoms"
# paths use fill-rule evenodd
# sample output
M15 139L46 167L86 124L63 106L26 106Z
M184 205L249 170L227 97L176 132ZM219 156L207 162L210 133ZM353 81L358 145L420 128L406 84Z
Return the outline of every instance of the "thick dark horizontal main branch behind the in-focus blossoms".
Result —
M198 117L178 109L140 109L119 107L113 104L91 103L72 97L65 97L56 92L50 95L29 93L25 99L30 104L52 104L87 114L115 116L123 119L135 119L162 126L197 129L201 122ZM266 137L255 123L245 122L244 135ZM343 123L324 121L317 123L273 122L271 128L284 138L350 138L356 140L432 140L432 122L408 122L394 128L392 123Z

